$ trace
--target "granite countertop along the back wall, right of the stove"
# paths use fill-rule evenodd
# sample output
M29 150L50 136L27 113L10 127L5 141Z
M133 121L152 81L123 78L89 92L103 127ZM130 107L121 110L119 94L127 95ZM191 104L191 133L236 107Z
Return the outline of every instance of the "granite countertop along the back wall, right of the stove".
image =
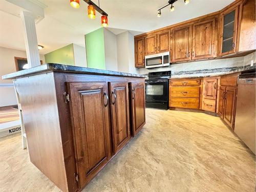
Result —
M232 68L230 69L230 71L207 71L207 74L203 74L203 73L197 73L197 71L195 71L193 73L193 71L191 71L190 74L174 74L172 75L172 77L170 77L169 79L184 79L184 78L202 78L202 77L216 77L216 76L221 76L221 75L227 75L227 74L231 74L231 73L238 73L238 72L243 72L243 71L248 71L248 70L255 70L256 66L245 66L244 68Z

